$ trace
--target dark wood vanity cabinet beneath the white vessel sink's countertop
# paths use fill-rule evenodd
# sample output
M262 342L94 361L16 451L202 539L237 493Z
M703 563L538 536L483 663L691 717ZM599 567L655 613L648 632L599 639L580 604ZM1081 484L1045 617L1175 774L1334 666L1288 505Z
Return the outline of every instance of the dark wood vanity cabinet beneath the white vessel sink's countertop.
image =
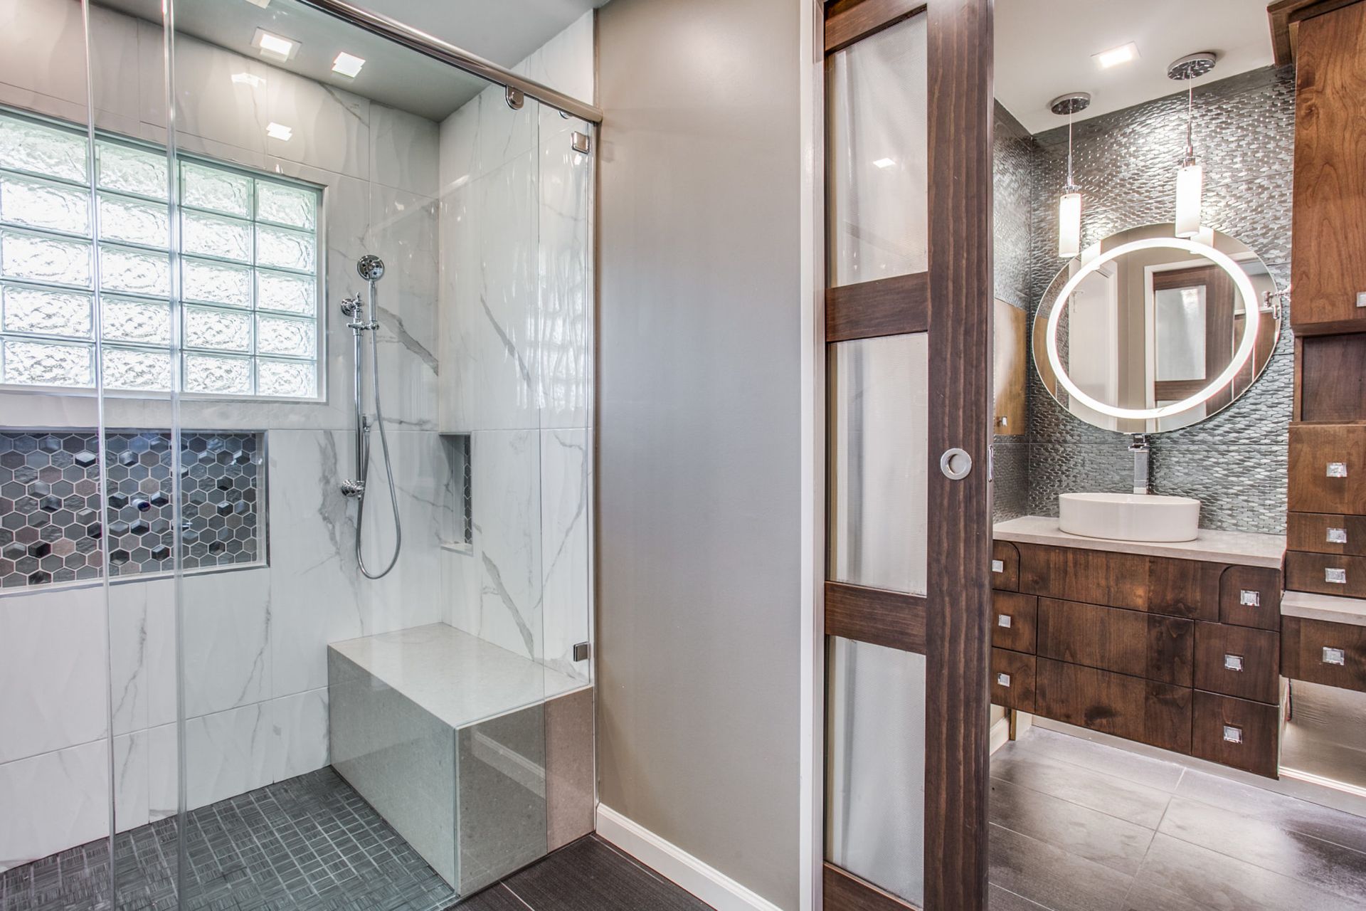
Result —
M993 556L993 702L1276 776L1279 570L1009 541Z

